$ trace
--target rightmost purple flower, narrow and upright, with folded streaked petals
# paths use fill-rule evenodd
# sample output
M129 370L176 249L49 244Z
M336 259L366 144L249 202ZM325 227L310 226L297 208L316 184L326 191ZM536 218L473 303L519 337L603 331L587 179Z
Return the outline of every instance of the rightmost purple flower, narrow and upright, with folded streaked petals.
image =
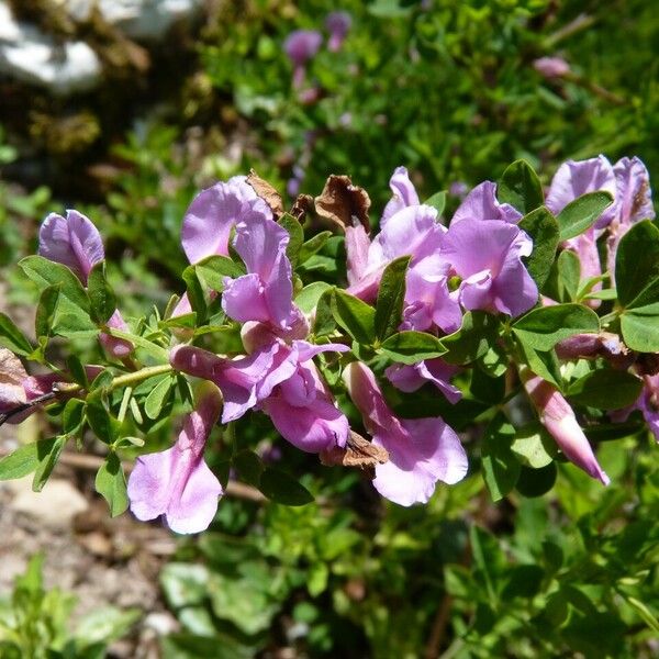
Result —
M611 277L615 275L615 255L622 237L636 222L655 219L650 175L643 160L637 157L621 158L614 165L613 172L619 212L608 225L606 238L606 265Z

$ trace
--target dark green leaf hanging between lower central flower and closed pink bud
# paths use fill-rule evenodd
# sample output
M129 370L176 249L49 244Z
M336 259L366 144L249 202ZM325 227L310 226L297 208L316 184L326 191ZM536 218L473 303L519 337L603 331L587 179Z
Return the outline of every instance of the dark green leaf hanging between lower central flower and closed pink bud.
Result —
M492 496L500 501L513 490L520 477L520 461L511 450L515 428L501 413L485 429L481 449L483 479Z

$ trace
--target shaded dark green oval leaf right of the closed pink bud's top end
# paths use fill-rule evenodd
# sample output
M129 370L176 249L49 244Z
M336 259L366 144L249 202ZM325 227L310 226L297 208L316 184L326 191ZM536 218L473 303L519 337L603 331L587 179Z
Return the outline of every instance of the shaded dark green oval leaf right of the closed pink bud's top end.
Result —
M567 393L580 405L619 410L634 404L641 389L643 381L627 371L597 369L572 382Z

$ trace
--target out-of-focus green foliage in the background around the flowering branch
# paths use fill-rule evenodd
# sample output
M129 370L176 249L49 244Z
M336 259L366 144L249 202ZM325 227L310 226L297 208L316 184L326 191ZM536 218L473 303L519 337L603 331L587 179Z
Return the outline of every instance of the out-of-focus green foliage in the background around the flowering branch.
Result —
M185 263L178 233L194 191L249 167L283 191L297 165L301 191L312 194L328 174L349 174L377 210L399 165L426 196L495 180L521 157L544 182L561 160L599 153L638 155L657 177L652 3L346 0L340 9L353 27L338 53L322 49L309 64L306 85L317 99L303 102L282 43L298 27L323 30L334 9L321 0L217 3L200 38L199 69L177 81L178 122L150 118L113 147L119 172L104 202L76 205L120 257L110 280L129 316L144 300L163 309L170 290L185 289L172 273ZM533 67L543 56L565 57L572 72L543 78ZM201 139L191 138L197 125ZM2 142L0 165L15 155ZM19 216L36 220L48 201L44 188L18 196L0 183L0 265L34 243L34 232L8 231L9 219L12 226ZM449 208L457 201L449 194ZM225 451L254 449L271 433L258 423L236 431L237 447ZM182 543L161 573L181 624L164 640L164 656L239 658L281 648L382 659L656 656L654 451L645 435L603 444L600 459L614 481L604 493L566 465L541 498L515 491L492 504L472 477L413 509L382 503L365 477L323 469L319 478L315 462L287 454L316 501L222 501L211 530ZM248 480L247 468L239 476ZM44 619L52 629L34 643L62 650L70 604L60 594L44 608L37 568L30 573L32 585L16 585L14 617L0 618L0 638L11 629L14 640L4 643L22 648L33 622Z

